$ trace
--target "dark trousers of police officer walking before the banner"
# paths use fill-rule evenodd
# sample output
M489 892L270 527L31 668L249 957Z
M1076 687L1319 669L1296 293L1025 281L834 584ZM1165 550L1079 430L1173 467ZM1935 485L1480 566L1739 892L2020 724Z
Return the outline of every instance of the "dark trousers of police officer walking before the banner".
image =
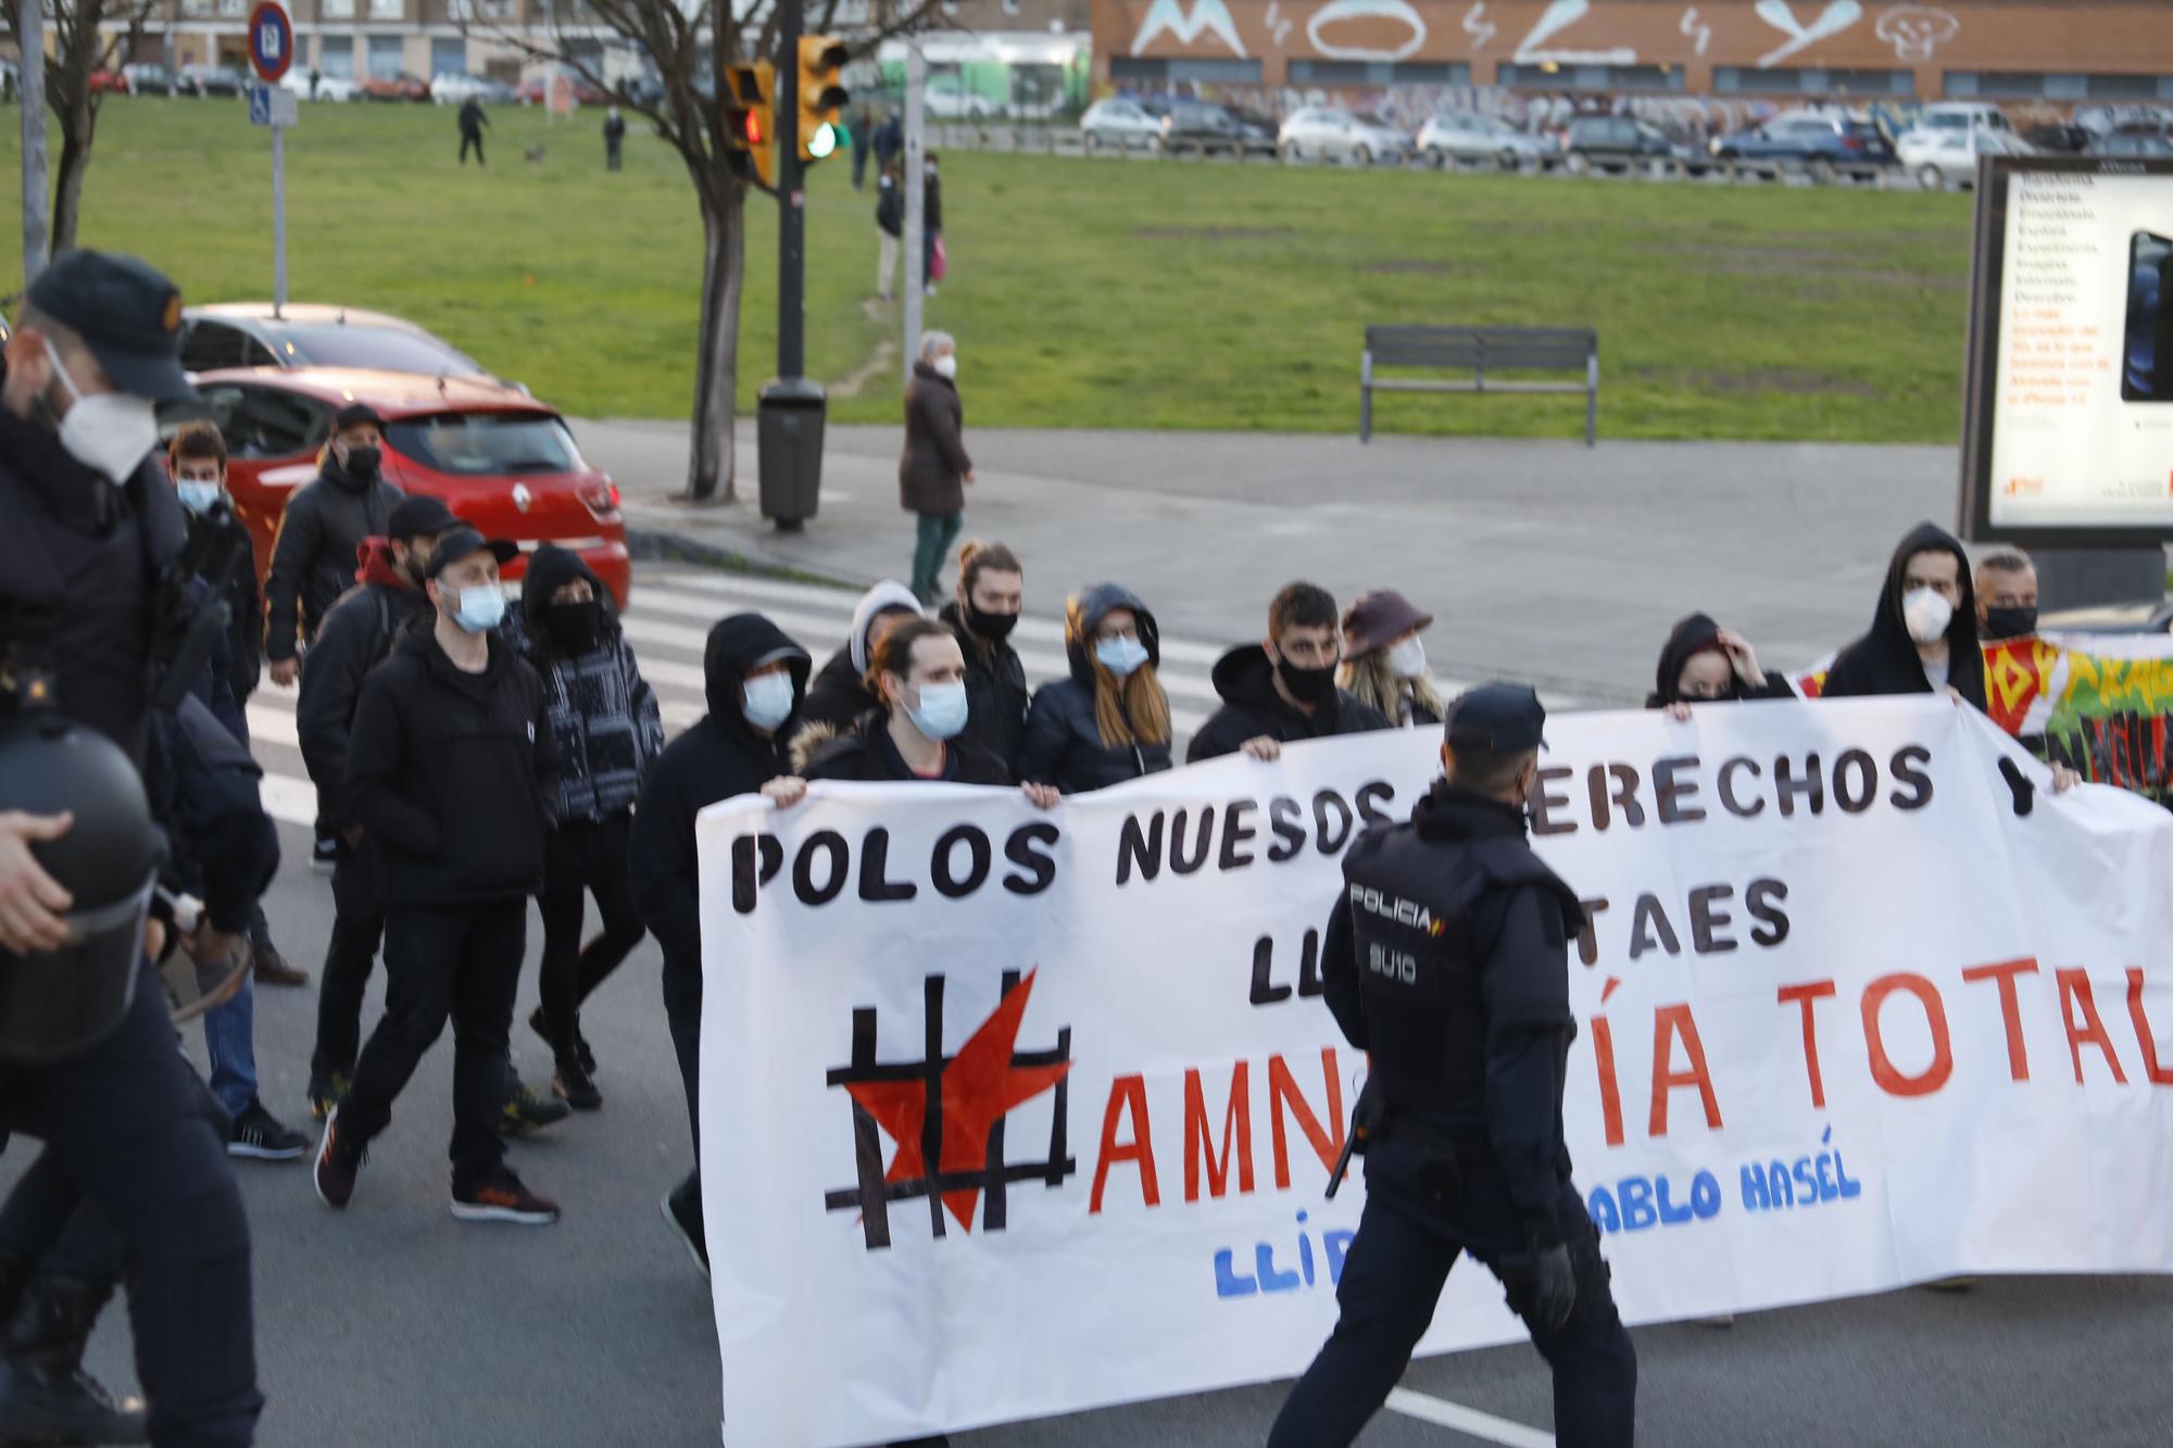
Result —
M1282 1405L1269 1448L1339 1448L1358 1437L1404 1376L1462 1252L1502 1278L1510 1307L1523 1311L1521 1272L1510 1261L1521 1244L1506 1202L1443 1209L1419 1189L1415 1163L1417 1152L1395 1141L1367 1152L1365 1215L1336 1283L1343 1315ZM1562 1448L1630 1448L1636 1350L1615 1311L1599 1235L1569 1183L1556 1215L1578 1274L1578 1307L1554 1331L1525 1318L1532 1346L1554 1368L1554 1437Z

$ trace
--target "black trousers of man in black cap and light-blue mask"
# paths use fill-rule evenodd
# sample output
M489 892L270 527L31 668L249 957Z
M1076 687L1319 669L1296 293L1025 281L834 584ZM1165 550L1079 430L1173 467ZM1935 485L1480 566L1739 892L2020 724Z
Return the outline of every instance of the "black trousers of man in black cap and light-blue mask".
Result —
M513 996L528 950L528 900L391 907L385 911L385 1020L354 1063L339 1122L369 1141L393 1120L393 1098L452 1022L452 1189L489 1183L506 1159L498 1135L506 1100Z

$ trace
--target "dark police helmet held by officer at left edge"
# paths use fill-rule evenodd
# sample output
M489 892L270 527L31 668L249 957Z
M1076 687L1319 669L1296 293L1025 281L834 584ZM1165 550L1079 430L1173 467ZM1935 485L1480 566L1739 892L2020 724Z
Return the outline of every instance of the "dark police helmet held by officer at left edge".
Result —
M48 1063L96 1046L135 1000L165 835L128 754L52 709L0 724L0 800L35 815L72 813L30 854L74 896L59 950L0 950L0 1061Z

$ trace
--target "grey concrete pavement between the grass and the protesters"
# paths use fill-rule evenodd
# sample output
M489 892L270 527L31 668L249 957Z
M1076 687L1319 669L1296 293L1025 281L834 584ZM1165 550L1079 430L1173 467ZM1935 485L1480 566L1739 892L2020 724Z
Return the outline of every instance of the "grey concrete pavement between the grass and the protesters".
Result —
M971 398L967 398L971 404ZM971 411L969 411L971 417ZM652 550L797 570L843 585L904 578L900 428L830 428L819 515L778 533L756 504L691 507L687 428L582 422L582 448ZM967 426L980 483L963 537L1026 561L1028 609L1097 578L1136 589L1171 633L1254 639L1269 596L1312 578L1349 600L1395 587L1439 615L1441 674L1534 678L1636 702L1693 609L1743 631L1769 667L1862 633L1893 541L1951 524L1951 448L1658 444L1258 433L1037 433ZM811 639L817 652L830 639Z

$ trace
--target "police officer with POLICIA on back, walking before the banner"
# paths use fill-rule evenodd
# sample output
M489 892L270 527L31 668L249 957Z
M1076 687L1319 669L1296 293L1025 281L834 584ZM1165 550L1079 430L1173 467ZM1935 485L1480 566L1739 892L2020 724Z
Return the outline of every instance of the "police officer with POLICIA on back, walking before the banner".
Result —
M1410 824L1343 859L1321 981L1371 1057L1352 1124L1367 1202L1343 1315L1269 1448L1349 1444L1389 1398L1460 1252L1484 1263L1554 1368L1562 1448L1632 1441L1636 1352L1562 1146L1569 937L1584 913L1525 841L1547 713L1484 685L1449 704L1447 778ZM1341 1168L1339 1168L1341 1172Z

